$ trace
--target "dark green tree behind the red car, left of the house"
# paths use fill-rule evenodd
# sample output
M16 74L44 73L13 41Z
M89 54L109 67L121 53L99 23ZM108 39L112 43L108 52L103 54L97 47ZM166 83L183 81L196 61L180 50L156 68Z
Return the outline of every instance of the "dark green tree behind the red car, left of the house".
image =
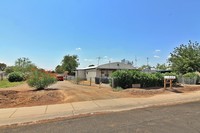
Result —
M74 74L74 71L78 67L78 56L77 55L66 55L62 60L62 68L64 71L68 71L69 74Z

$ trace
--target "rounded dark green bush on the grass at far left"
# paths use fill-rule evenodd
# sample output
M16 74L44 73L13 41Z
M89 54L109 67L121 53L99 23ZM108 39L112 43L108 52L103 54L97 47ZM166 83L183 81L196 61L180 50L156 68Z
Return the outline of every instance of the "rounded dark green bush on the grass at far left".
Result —
M25 76L21 72L11 72L8 75L8 81L10 82L21 82L23 80L25 80Z

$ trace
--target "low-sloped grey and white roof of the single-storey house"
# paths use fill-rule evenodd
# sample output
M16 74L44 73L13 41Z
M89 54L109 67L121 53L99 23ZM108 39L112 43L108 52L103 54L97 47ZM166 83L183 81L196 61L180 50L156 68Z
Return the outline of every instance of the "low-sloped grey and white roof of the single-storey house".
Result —
M92 67L86 67L86 68L78 68L77 70L89 70L89 69L110 69L110 70L133 70L136 69L132 65L128 65L121 62L113 62L113 63L107 63L99 66L92 66Z

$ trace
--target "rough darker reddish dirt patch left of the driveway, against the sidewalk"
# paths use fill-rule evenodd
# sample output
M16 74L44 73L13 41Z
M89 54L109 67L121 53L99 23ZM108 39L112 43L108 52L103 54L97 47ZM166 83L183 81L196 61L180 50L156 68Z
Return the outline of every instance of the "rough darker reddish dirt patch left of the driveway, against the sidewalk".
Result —
M0 91L0 108L27 107L61 103L64 95L59 91Z

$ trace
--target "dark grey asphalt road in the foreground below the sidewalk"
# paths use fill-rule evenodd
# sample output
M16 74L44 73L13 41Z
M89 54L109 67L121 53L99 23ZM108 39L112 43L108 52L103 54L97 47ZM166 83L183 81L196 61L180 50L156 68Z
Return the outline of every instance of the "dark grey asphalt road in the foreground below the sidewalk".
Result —
M200 102L138 109L45 124L1 128L1 133L200 133Z

